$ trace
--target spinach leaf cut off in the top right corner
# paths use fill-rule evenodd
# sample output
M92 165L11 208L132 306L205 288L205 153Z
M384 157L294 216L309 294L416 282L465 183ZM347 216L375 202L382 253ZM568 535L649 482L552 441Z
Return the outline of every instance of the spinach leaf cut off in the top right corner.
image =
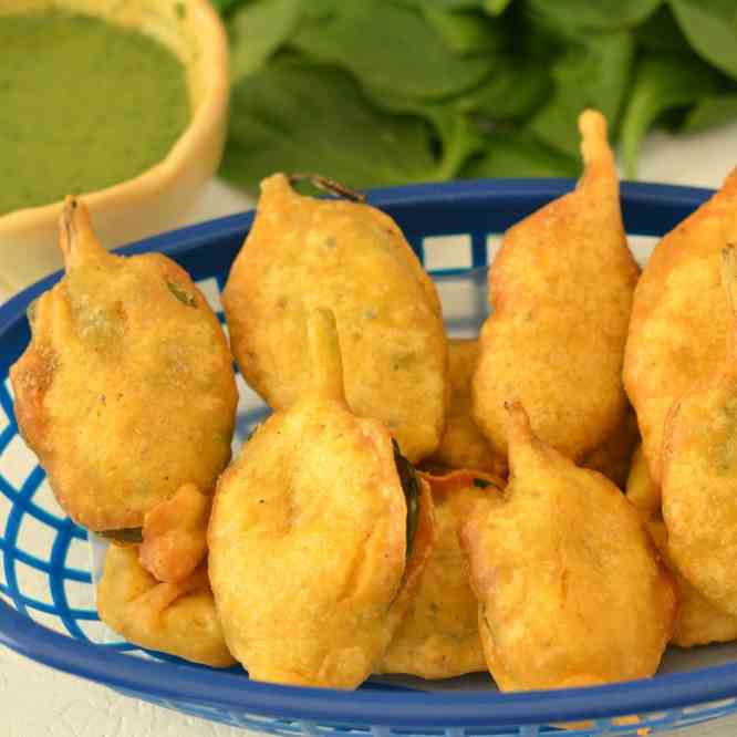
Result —
M698 53L737 80L737 11L734 0L668 0L681 30Z

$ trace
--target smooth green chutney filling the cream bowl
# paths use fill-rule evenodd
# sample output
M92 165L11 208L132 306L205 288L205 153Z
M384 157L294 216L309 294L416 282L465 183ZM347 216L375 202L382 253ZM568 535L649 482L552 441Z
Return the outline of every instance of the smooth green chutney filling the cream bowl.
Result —
M131 179L189 123L156 40L63 11L0 15L0 215Z

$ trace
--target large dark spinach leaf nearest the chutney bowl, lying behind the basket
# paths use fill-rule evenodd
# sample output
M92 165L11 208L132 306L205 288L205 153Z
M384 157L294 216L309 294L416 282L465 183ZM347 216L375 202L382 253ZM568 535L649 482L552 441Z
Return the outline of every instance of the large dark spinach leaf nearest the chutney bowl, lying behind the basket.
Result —
M346 73L277 58L233 85L220 173L247 189L278 170L353 187L438 178L430 126L382 114Z

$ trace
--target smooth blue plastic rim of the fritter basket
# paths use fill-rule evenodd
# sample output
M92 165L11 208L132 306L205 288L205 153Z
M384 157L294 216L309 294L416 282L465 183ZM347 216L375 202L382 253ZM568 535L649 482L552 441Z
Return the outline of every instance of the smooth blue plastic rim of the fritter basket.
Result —
M380 207L428 203L491 203L505 198L553 198L574 186L573 179L497 179L444 185L409 185L367 190ZM623 183L623 208L652 206L695 209L714 191L695 187ZM117 252L164 250L180 256L208 241L240 235L253 211L209 220L168 231ZM0 305L0 343L28 303L52 286L56 272ZM242 674L181 667L117 653L49 630L20 614L0 598L0 643L34 661L118 688L131 695L166 699L170 705L200 705L271 718L342 725L395 727L505 727L599 719L617 715L652 714L737 696L737 661L685 673L655 675L605 686L557 691L495 693L481 689L336 691L282 686L243 678ZM204 675L204 673L206 675Z

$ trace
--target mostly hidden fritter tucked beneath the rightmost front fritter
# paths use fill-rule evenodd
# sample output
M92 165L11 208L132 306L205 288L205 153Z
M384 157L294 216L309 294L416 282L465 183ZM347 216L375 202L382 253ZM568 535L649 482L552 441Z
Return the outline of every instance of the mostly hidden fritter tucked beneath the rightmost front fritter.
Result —
M647 528L678 591L678 613L671 643L679 647L737 640L737 616L718 610L678 572L668 553L668 538L661 513L661 490L650 476L647 460L637 448L627 479L627 499Z

